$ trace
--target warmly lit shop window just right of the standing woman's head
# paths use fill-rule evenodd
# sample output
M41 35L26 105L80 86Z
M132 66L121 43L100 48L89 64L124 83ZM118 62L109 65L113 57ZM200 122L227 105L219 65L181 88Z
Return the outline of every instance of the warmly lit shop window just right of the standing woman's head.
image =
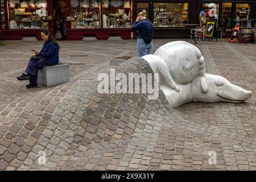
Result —
M154 3L156 27L185 27L188 23L188 3Z

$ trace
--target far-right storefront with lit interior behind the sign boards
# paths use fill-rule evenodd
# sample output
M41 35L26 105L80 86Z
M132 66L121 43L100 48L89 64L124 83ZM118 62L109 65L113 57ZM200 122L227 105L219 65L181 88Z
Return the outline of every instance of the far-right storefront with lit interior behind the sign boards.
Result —
M217 28L233 28L236 25L256 26L256 2L247 1L202 1L200 11L205 11L207 21L214 21Z

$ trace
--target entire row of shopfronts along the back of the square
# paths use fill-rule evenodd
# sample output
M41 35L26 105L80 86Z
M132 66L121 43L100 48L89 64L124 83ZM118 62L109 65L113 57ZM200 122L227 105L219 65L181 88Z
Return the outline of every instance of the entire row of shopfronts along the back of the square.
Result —
M186 24L200 24L202 10L207 21L216 22L219 34L222 27L245 25L249 18L256 26L253 0L0 0L0 30L4 40L40 40L42 28L64 40L130 39L131 26L143 9L155 24L155 39L187 38Z

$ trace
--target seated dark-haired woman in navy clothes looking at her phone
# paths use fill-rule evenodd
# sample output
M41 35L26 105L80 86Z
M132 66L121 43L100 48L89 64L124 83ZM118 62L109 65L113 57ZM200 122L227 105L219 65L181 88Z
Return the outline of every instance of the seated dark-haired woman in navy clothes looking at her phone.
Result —
M17 77L18 80L30 80L30 84L26 85L27 88L38 86L38 69L59 63L60 46L56 39L46 29L41 31L41 36L44 40L42 50L36 50L35 54L30 56L26 71L22 76Z

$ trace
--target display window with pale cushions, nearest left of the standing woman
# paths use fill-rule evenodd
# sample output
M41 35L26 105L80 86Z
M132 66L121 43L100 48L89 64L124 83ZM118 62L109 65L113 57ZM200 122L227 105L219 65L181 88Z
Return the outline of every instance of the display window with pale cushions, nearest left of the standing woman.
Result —
M102 0L102 27L128 28L132 22L130 0Z

